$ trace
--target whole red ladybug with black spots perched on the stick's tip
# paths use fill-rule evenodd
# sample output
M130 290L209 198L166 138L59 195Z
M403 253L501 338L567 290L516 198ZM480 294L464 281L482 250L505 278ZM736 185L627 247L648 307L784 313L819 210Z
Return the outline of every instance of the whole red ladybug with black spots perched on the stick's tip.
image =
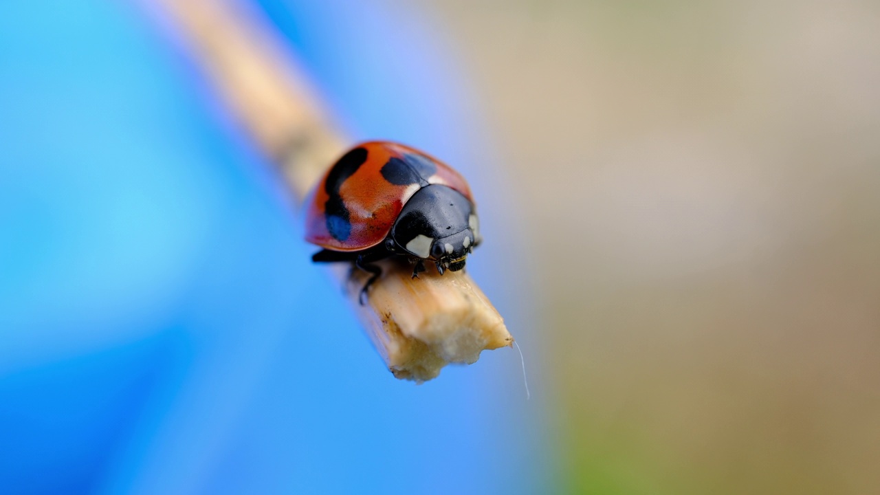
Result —
M370 272L361 300L382 270L373 262L406 256L413 277L433 262L440 275L465 268L480 244L465 179L403 144L359 144L330 168L305 200L305 240L323 247L313 262L355 262Z

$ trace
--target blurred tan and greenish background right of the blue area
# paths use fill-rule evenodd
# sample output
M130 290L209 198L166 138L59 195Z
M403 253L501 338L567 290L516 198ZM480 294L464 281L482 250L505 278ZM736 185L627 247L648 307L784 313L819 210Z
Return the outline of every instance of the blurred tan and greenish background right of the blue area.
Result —
M880 4L429 3L538 268L572 493L880 493Z

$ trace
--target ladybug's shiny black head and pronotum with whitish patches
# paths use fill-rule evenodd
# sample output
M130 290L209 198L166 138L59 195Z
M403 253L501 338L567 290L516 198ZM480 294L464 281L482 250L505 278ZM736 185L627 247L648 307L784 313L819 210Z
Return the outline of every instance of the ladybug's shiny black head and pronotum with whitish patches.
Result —
M467 255L480 240L477 229L473 204L458 191L433 184L404 205L392 240L405 254L434 261L442 274L465 268Z

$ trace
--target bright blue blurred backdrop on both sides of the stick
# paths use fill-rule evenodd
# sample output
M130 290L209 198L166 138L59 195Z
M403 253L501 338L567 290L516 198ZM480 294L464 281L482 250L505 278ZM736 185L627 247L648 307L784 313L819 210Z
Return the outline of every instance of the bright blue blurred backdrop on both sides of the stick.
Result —
M260 4L353 137L457 164L487 238L516 228L424 16ZM549 489L539 373L531 402L509 350L394 380L268 162L148 11L0 4L0 492ZM487 244L473 276L530 358L528 284Z

